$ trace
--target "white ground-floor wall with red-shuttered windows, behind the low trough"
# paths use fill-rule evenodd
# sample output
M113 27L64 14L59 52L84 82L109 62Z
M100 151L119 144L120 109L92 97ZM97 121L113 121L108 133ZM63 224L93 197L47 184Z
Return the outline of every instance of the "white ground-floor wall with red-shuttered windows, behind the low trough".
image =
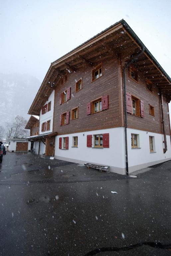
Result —
M87 147L87 135L109 133L109 148ZM78 136L78 148L73 146L73 136ZM69 137L69 149L59 149L59 138ZM92 138L93 142L93 138ZM92 145L93 147L93 145ZM110 166L110 171L125 174L123 127L66 134L55 138L55 158L75 163L94 163Z

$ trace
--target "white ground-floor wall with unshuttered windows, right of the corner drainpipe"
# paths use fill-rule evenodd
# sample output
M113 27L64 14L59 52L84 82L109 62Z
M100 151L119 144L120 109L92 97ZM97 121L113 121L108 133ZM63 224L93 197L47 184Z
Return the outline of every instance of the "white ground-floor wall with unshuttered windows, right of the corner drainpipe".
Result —
M138 149L131 148L131 133L138 134ZM155 153L150 153L149 136L154 137ZM163 134L127 129L129 173L171 159L170 136L167 135L167 151L164 154Z

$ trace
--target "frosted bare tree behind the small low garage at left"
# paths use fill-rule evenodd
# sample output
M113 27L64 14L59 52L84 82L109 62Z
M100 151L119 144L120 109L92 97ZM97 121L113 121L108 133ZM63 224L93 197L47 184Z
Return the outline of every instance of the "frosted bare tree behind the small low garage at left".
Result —
M27 120L22 116L16 116L11 123L7 123L7 134L9 137L25 138L29 136L29 131L24 129Z

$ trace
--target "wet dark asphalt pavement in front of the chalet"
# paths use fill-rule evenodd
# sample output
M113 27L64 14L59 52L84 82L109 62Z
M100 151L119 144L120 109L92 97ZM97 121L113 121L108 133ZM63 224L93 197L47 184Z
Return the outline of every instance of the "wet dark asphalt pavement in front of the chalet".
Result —
M171 244L170 168L171 161L128 178L7 152L0 164L0 255L171 255L153 247Z

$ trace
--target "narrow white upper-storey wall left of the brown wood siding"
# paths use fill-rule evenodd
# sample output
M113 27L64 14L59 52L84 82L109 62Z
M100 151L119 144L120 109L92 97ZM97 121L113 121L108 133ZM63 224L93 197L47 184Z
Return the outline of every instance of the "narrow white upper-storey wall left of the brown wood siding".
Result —
M44 133L49 133L49 132L52 132L53 130L53 115L54 115L54 95L55 95L55 91L53 91L51 93L51 95L49 96L49 99L48 101L44 104L48 104L48 102L51 101L51 110L46 112L45 114L42 115L42 110L40 111L40 128L39 128L39 134L44 134ZM42 132L41 129L42 129L42 123L44 122L47 122L51 120L51 126L50 126L50 130L48 131L44 131Z

